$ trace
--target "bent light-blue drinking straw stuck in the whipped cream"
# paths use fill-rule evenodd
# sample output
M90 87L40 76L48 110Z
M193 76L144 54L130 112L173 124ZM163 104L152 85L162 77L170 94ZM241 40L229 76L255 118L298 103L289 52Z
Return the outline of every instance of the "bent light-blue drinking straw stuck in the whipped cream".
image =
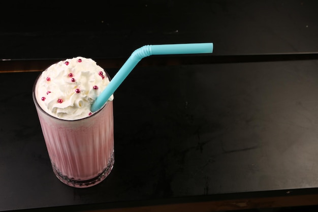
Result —
M95 112L102 108L122 81L135 68L139 61L146 56L163 54L200 54L212 52L213 43L161 44L140 47L139 49L136 49L126 60L100 96L98 96L95 102L93 102L90 110Z

